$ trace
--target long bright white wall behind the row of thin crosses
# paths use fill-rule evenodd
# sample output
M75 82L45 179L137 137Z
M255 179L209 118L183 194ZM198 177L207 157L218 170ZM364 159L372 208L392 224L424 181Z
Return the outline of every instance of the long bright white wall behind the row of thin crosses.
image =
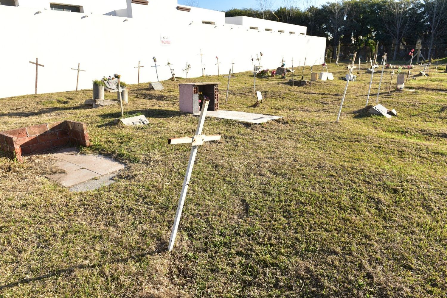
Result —
M144 66L140 82L156 81L153 56L160 65L160 80L171 77L168 59L177 76L186 77L186 62L191 65L189 78L202 76L200 49L207 75L217 75L216 56L221 75L228 74L233 59L235 72L252 70L251 56L256 59L259 52L264 54L262 66L270 69L276 69L282 57L288 67L292 57L295 66L305 57L306 65L323 62L326 38L258 32L224 24L221 12L192 8L188 13L177 11L173 2L152 3L131 4L133 18L81 18L85 13L51 10L35 15L34 8L0 6L0 98L34 94L35 65L29 61L36 57L45 65L39 67L38 93L74 90L76 71L71 68L78 62L87 71L80 73L80 89L92 88L92 80L114 73L136 84L138 61ZM215 21L217 27L202 24L202 19ZM161 46L160 35L169 36L171 46Z

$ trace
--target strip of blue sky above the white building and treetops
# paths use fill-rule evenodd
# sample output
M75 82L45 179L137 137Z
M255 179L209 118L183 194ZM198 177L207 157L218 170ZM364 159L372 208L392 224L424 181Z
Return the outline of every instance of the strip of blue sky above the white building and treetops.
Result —
M186 5L191 0L178 0L178 4ZM325 2L328 2L329 0L313 0L313 2L316 5L323 4ZM195 0L195 2L198 2L198 7L201 8L208 8L208 9L214 9L214 10L228 10L231 8L256 8L256 1L255 0ZM278 8L281 6L282 1L281 0L273 0L273 8ZM298 6L302 6L303 1L298 0L297 1Z

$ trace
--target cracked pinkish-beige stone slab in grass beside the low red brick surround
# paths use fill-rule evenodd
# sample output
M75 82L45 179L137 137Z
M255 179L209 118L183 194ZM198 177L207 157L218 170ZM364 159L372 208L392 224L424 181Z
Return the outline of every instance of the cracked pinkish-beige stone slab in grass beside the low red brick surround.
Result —
M125 167L114 159L104 155L80 154L76 148L65 148L51 155L56 159L56 166L66 173L47 175L71 191L98 189L103 185L114 183L111 180L117 171ZM97 178L96 180L92 180Z

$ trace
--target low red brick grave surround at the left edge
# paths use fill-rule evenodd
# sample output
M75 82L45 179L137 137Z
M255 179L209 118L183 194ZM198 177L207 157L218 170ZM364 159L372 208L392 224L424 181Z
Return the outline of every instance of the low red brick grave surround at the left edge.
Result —
M0 149L22 162L22 155L66 144L90 146L87 126L81 122L60 121L0 132Z

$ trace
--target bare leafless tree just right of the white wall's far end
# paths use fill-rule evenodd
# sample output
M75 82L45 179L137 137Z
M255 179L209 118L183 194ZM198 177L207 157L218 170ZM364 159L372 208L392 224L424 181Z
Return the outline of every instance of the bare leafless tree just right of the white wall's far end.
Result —
M322 5L327 13L328 24L326 24L326 29L332 38L332 44L335 47L338 45L338 41L342 38L343 31L345 29L346 14L350 10L350 2L345 0L335 0L334 2L328 2ZM334 59L336 58L336 51L333 51Z

